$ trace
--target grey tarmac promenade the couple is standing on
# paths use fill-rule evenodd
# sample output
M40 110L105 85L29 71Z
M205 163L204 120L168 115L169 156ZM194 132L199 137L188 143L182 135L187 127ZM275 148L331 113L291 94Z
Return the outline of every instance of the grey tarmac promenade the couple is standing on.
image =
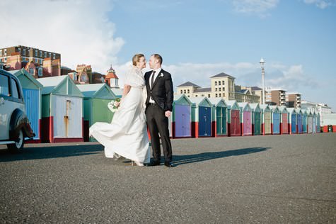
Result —
M96 142L0 145L0 223L336 223L336 133L172 144L174 168Z

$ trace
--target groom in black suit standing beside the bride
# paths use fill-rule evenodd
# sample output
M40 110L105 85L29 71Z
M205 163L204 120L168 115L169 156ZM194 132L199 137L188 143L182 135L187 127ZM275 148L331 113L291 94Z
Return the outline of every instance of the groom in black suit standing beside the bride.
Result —
M153 69L146 72L146 118L149 133L151 134L151 147L153 149L153 161L147 166L157 166L161 159L161 142L163 154L165 155L165 166L173 167L172 150L168 130L168 118L173 110L173 82L168 72L161 68L162 57L160 55L151 55L149 67Z

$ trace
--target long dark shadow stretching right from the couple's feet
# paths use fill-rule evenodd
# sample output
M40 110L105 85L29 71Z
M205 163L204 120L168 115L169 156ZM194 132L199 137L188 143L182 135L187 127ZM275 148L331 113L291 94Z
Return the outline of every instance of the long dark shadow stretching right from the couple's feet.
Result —
M256 152L263 152L271 149L270 147L249 147L239 150L228 150L222 152L202 152L199 154L192 155L173 155L173 164L176 166L181 164L188 164L194 162L202 162L206 160L219 159L224 157L248 155ZM164 159L163 157L161 160Z

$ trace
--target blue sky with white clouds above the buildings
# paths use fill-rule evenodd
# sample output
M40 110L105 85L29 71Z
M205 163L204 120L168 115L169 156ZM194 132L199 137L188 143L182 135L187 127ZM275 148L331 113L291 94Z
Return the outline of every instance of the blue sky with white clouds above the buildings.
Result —
M123 84L132 56L163 57L176 87L237 85L299 92L336 112L336 0L1 0L0 47L59 52ZM148 70L144 69L144 72Z

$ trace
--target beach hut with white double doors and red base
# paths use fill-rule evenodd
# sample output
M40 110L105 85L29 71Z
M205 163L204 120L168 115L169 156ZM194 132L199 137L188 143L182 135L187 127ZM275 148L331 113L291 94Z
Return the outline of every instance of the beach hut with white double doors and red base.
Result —
M83 94L67 75L38 79L42 142L83 142Z

